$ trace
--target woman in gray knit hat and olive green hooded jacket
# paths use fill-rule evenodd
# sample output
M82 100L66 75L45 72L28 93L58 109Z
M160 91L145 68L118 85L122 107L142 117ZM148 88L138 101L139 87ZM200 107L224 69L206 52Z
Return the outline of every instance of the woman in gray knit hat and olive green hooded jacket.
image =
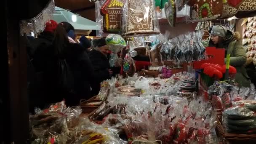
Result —
M230 54L229 64L237 69L235 82L238 83L240 87L250 87L251 81L244 67L246 53L241 44L240 34L238 32L231 32L221 25L214 26L211 30L209 46L225 48L225 57L227 54Z

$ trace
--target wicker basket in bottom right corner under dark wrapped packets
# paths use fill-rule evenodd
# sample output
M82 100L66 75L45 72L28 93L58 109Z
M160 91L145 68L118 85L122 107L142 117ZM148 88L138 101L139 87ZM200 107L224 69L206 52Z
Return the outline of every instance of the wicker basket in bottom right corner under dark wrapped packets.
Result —
M227 133L225 132L219 119L217 119L216 133L221 139L225 140L224 143L229 142L230 144L256 144L256 134Z

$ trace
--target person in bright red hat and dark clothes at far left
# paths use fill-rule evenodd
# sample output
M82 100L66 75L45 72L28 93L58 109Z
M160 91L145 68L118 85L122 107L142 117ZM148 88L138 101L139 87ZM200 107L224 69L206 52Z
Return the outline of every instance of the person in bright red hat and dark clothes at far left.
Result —
M43 89L43 76L41 75L41 69L43 69L43 62L46 57L41 57L38 53L43 53L47 48L52 45L54 32L58 24L56 21L50 20L45 24L45 29L38 35L37 38L29 40L27 43L27 56L28 65L27 71L29 75L27 77L29 87L29 111L34 112L35 107L44 107L44 96ZM44 55L45 56L45 55ZM43 59L42 61L37 61L37 59Z

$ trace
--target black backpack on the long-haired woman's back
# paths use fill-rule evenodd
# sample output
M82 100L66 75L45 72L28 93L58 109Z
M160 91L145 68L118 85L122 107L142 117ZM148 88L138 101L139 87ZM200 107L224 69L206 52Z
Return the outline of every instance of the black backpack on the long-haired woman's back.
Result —
M57 85L63 91L75 93L74 75L66 59L59 59L57 62Z

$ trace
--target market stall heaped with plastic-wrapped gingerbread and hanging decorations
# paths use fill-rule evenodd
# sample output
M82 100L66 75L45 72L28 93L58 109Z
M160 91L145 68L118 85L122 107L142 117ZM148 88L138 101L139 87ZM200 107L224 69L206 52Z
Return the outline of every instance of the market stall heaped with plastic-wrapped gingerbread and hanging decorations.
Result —
M50 4L45 11L52 12ZM237 69L229 65L230 54L226 58L224 48L208 47L212 23L204 22L245 10L254 11L243 0L96 1L99 32L88 39L106 37L109 64L121 67L122 75L104 80L98 95L81 99L77 106L60 101L35 108L29 116L31 143L255 143L256 90L235 83ZM243 44L254 44L253 20L247 20L244 32L251 40ZM171 27L200 23L191 32L172 35L161 33L161 21ZM32 27L26 22L21 21L26 28L21 32ZM136 60L138 56L147 57L147 63Z

